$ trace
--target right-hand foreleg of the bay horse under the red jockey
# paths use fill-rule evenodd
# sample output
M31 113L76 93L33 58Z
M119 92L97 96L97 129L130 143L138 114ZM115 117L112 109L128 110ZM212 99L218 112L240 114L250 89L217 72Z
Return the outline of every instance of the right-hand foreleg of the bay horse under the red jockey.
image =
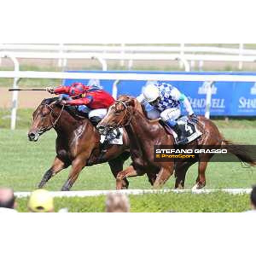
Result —
M62 191L69 191L72 188L84 166L86 166L86 160L84 160L84 158L76 159L72 162L72 170L66 183L61 189Z

